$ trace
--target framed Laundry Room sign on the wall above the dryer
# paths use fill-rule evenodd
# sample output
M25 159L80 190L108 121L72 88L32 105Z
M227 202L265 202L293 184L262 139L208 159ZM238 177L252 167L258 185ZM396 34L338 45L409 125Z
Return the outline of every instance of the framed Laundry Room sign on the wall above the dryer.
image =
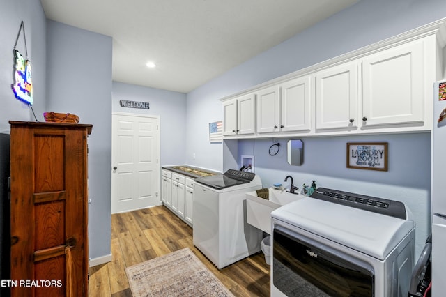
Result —
M387 142L348 142L347 168L387 172Z

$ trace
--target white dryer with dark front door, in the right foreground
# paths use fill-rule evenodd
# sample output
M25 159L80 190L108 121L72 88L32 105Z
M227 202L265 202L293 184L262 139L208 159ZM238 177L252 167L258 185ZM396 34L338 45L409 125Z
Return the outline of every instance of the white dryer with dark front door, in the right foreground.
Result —
M401 202L318 188L271 217L271 296L407 296L415 222Z

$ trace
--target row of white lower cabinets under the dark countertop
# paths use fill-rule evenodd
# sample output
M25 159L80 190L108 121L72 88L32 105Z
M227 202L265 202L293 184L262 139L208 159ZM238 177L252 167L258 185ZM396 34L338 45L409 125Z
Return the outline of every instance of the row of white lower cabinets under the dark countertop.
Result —
M192 195L193 178L188 178L182 174L170 172L162 169L161 171L161 201L181 220L192 226Z

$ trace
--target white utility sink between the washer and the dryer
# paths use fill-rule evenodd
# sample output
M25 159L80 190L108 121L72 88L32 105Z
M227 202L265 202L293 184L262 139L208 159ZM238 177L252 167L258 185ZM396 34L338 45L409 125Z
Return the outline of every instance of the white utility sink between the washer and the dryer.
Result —
M269 188L268 191L268 199L257 196L256 191L246 193L246 216L248 224L271 234L271 212L305 196L273 188Z

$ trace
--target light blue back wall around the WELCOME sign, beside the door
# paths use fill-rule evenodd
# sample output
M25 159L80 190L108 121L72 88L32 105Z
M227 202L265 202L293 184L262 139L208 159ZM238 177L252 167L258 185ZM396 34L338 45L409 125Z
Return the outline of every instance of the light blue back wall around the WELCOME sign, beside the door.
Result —
M125 108L119 100L148 102L150 109ZM160 116L160 165L186 159L186 94L113 82L113 112Z

